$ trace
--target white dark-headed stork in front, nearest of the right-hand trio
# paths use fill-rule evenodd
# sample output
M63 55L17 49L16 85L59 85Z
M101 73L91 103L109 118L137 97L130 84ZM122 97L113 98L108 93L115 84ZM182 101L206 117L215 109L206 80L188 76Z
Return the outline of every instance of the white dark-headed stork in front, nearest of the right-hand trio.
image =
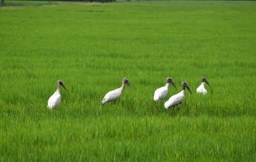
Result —
M164 103L165 109L168 109L169 107L174 107L176 105L178 105L178 107L180 107L180 103L182 103L182 101L184 99L185 88L187 88L189 90L190 94L192 94L192 92L191 92L190 88L188 87L188 84L186 84L186 82L182 82L181 87L182 87L181 92L173 95L172 97L170 97L170 99L168 101L166 101Z

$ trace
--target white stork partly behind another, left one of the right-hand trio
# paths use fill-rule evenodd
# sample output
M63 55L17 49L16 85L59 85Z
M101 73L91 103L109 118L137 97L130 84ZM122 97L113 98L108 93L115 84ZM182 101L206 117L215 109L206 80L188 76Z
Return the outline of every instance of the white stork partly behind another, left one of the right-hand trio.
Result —
M161 99L164 99L166 97L166 95L168 94L168 88L169 88L170 83L176 88L174 82L172 82L172 78L170 78L170 77L167 78L165 86L162 86L161 88L158 88L157 90L155 90L155 94L153 97L153 100L155 102L159 101ZM177 90L177 88L176 88L176 90Z

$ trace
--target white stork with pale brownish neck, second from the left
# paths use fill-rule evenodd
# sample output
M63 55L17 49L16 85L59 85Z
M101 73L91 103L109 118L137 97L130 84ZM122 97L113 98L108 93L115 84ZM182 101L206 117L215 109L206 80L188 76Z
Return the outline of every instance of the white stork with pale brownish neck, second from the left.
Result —
M130 87L130 83L126 78L122 80L122 86L120 88L117 88L116 90L111 90L107 92L107 94L105 94L105 97L101 101L101 105L104 105L105 103L108 103L110 101L116 101L117 99L119 99L125 88L125 84L127 84Z

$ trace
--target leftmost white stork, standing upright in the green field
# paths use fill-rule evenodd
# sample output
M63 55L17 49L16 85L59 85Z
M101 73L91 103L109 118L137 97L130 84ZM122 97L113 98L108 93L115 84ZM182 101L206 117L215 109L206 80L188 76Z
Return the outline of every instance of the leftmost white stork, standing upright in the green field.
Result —
M65 90L67 90L66 87L64 86L63 82L61 82L61 80L57 80L57 90L53 93L53 95L48 100L47 107L49 107L49 109L57 108L61 101L60 86L63 86L63 88Z

